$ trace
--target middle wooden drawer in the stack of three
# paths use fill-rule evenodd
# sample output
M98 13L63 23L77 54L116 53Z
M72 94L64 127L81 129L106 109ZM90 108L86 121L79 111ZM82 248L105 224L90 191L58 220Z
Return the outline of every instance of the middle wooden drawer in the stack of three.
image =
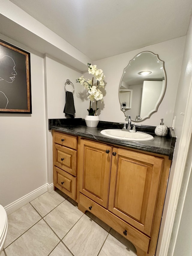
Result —
M76 159L77 151L54 144L54 165L76 176Z

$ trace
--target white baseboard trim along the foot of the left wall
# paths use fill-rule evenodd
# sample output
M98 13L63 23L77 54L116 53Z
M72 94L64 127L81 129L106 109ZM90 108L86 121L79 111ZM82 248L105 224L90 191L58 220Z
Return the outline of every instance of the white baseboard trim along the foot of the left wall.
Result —
M12 212L18 210L25 204L31 202L35 198L41 196L45 192L52 192L53 191L53 183L41 186L40 188L35 189L34 191L30 192L29 194L19 198L18 200L14 201L13 203L8 204L4 207L5 211L7 212L7 215L11 214Z

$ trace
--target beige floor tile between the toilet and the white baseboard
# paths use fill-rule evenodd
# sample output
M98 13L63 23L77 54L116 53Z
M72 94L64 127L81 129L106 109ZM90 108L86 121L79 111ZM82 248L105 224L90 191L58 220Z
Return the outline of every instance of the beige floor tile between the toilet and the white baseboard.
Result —
M10 245L10 243L21 236L40 219L41 216L35 211L30 203L27 203L20 209L8 215L8 232L4 248Z

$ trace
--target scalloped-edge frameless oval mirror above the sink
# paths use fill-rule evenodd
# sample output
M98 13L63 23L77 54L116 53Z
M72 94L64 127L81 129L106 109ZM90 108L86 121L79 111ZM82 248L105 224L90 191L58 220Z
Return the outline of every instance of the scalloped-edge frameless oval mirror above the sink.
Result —
M137 54L124 68L119 85L119 101L125 116L141 122L157 112L167 86L164 61L158 54Z

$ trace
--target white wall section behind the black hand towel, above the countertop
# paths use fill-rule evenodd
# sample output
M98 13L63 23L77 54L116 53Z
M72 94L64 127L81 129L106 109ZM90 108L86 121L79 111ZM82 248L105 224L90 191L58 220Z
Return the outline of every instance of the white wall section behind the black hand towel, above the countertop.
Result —
M65 106L65 90L64 84L69 79L74 85L74 105L75 105L75 118L81 118L81 91L82 86L76 83L82 74L67 66L65 63L54 59L49 55L45 56L46 59L46 87L47 87L47 114L48 118L65 118L63 113ZM71 85L66 85L67 91L73 91Z

